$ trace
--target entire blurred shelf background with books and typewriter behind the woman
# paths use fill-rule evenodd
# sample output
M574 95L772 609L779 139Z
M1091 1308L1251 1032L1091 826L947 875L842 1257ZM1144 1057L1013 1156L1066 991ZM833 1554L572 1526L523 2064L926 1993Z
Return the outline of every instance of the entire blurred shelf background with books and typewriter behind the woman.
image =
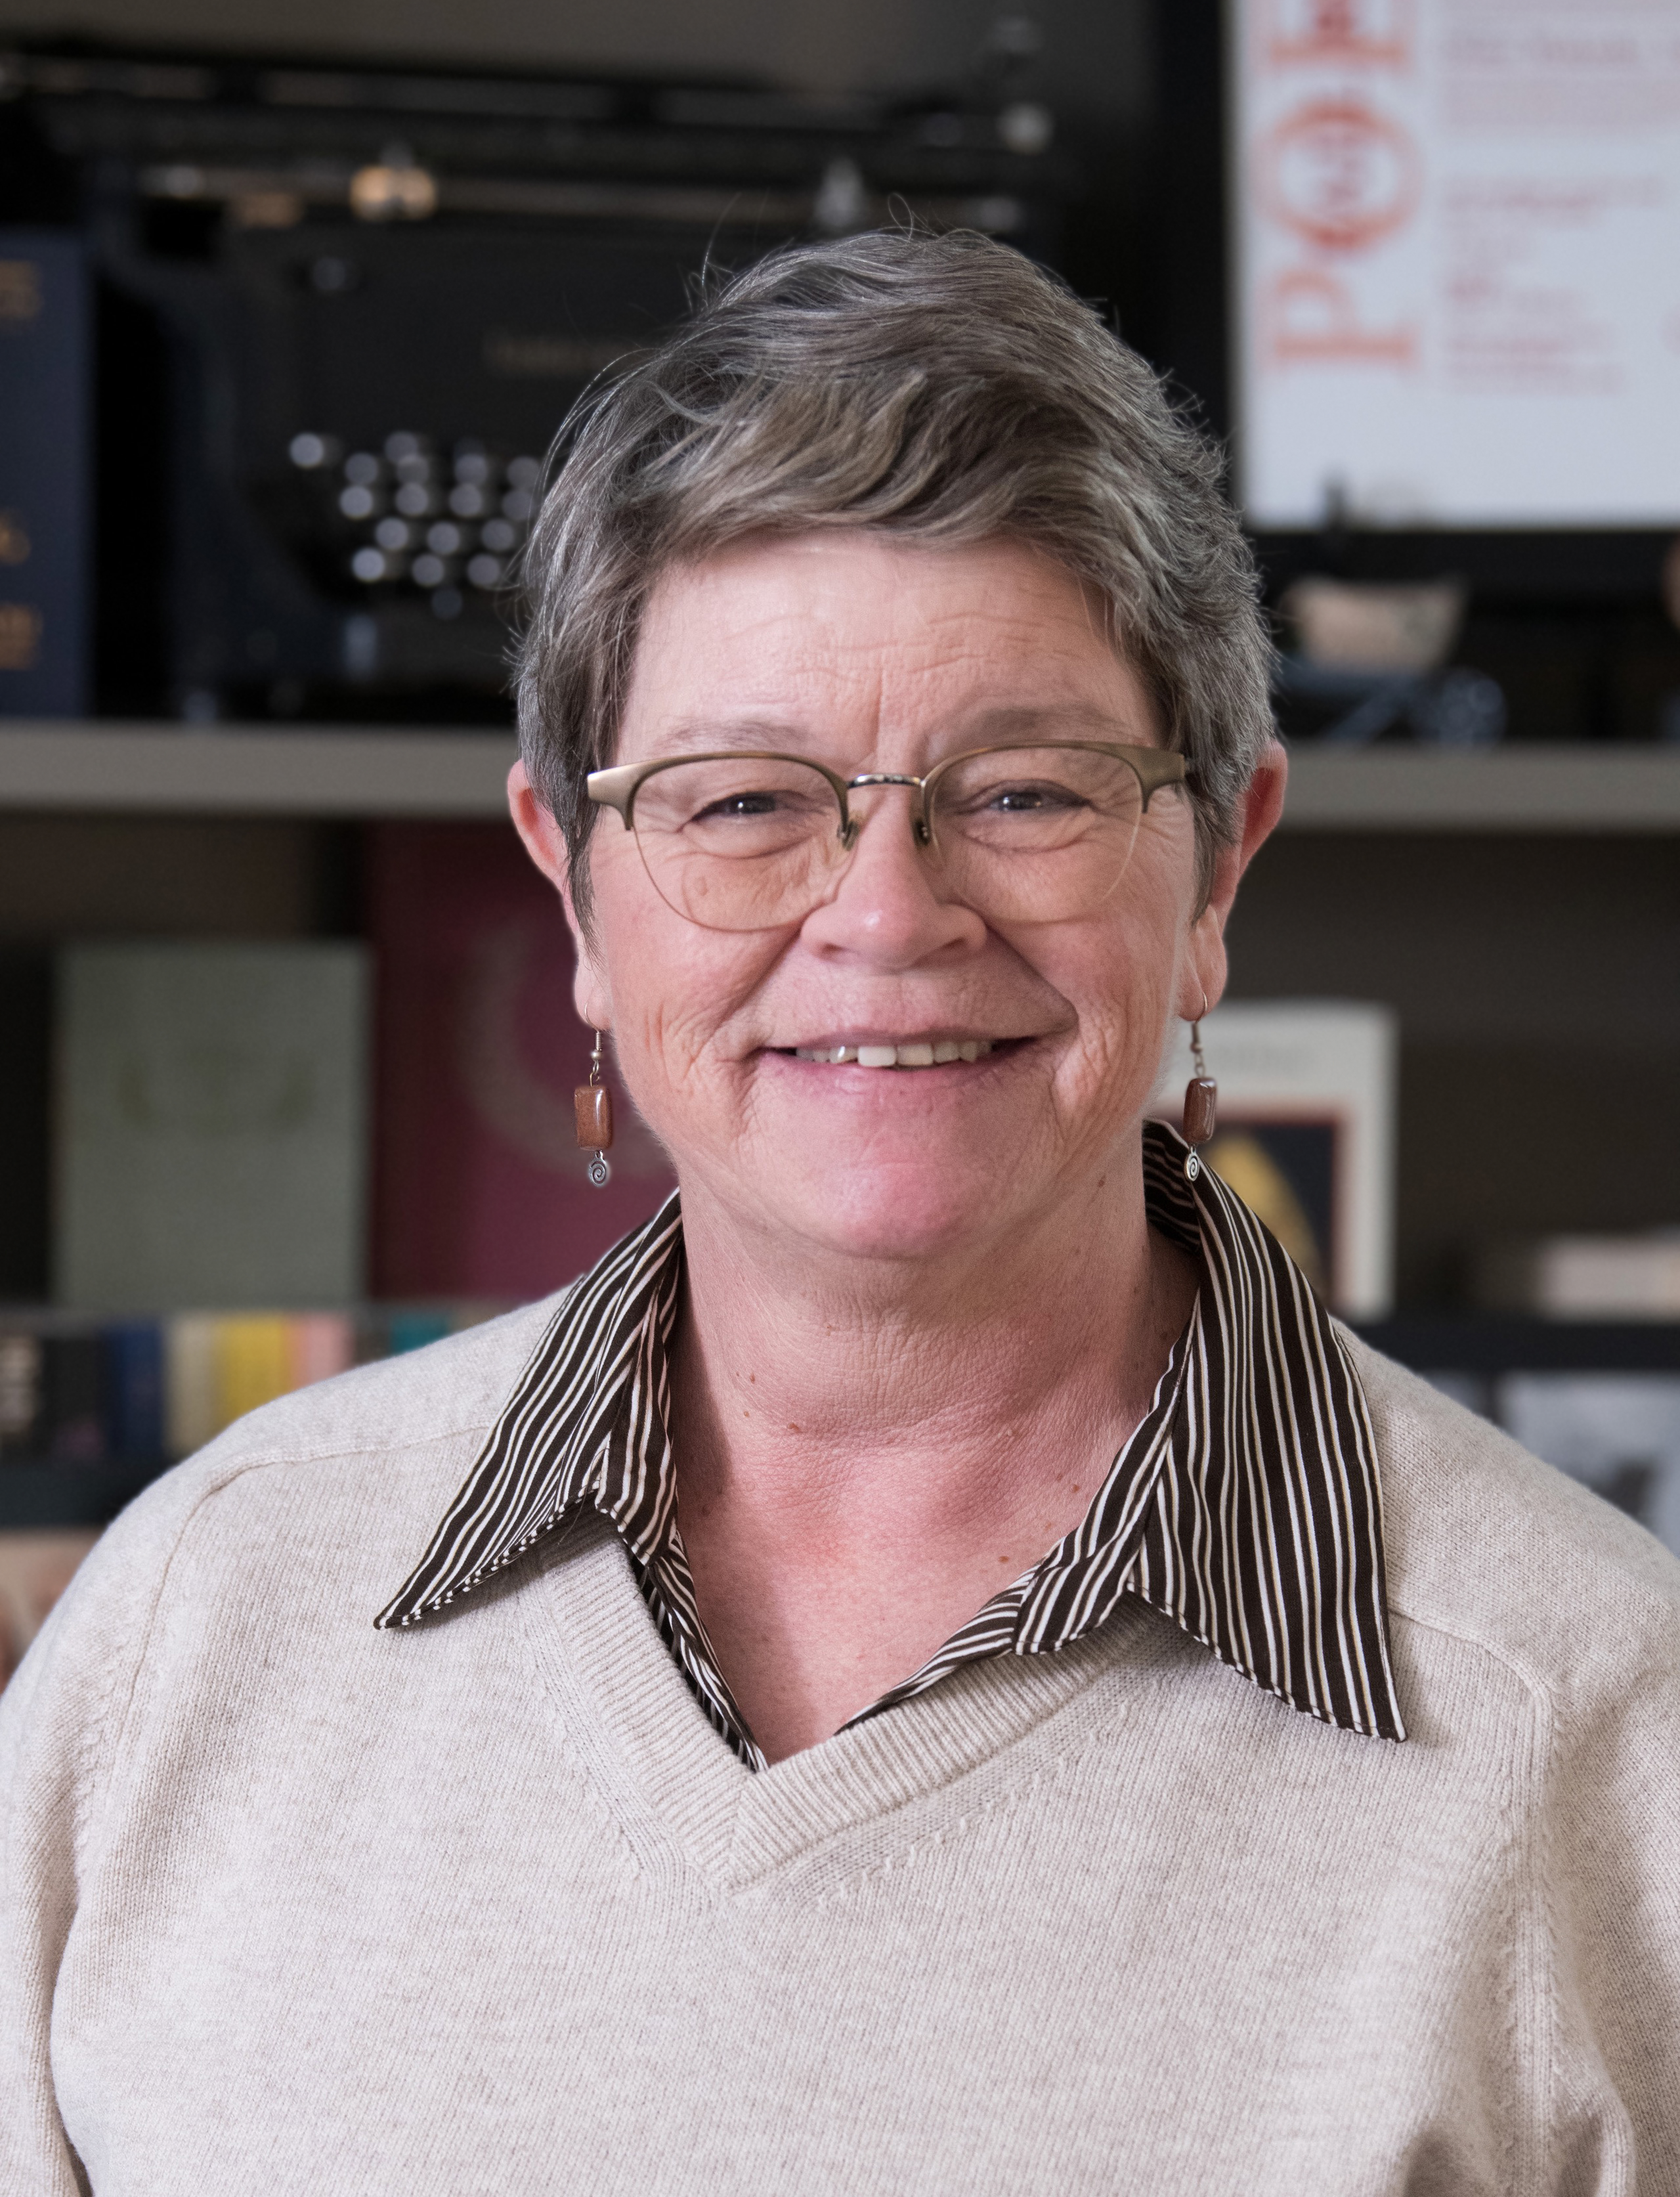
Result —
M1293 778L1217 1162L1680 1547L1680 0L0 0L7 1652L171 1457L665 1193L571 1145L509 576L703 266L905 215L1230 448Z

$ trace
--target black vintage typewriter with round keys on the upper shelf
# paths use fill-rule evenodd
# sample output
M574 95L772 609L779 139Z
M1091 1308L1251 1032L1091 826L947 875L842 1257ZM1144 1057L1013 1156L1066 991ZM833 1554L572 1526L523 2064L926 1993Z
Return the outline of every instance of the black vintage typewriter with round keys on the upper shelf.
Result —
M556 428L705 266L885 220L1054 259L1043 105L0 53L0 224L97 294L99 707L505 716Z

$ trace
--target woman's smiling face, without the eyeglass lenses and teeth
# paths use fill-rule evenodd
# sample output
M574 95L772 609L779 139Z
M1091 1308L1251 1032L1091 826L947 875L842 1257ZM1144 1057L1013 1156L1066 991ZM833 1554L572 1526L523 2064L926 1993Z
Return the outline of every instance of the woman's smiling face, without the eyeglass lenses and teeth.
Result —
M1138 677L1061 565L1012 543L810 534L661 582L615 760L773 747L848 778L925 773L1026 727L1157 745ZM1168 789L1094 914L986 923L942 896L905 789L852 802L865 822L832 901L751 934L668 907L604 813L580 1013L611 1028L690 1202L854 1257L1001 1246L1087 1204L1133 1149L1168 1022L1219 997L1239 866L1201 912L1190 806ZM545 822L534 852L553 872ZM795 1057L962 1039L993 1052L909 1070Z

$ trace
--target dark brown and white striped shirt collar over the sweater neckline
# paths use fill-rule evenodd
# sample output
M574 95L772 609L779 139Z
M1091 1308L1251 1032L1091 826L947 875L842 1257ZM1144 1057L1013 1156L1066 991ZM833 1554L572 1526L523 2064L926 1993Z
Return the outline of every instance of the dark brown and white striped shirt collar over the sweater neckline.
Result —
M1337 1327L1214 1173L1184 1180L1184 1145L1157 1123L1144 1125L1144 1202L1151 1226L1201 1270L1149 1413L1078 1527L854 1725L962 1663L1065 1648L1138 1595L1296 1709L1405 1738L1377 1446ZM466 1485L376 1624L444 1608L591 1505L624 1538L701 1707L762 1769L676 1525L668 1406L681 1283L683 1224L670 1197L562 1296Z

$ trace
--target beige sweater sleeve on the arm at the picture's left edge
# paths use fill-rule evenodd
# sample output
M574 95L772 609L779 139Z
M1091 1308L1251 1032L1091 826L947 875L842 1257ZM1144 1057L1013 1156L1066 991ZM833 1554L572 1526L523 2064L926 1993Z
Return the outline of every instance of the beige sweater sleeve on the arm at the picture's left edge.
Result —
M53 1995L182 1492L158 1483L119 1518L0 1694L0 2190L88 2190L53 2089Z

